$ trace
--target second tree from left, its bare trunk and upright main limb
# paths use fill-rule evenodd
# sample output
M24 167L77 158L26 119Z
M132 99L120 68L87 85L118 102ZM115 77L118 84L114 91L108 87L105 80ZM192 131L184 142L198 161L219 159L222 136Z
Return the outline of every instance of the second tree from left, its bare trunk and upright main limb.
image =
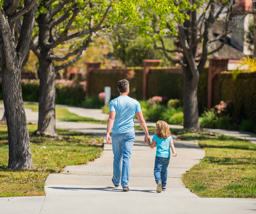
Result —
M38 37L38 60L39 60L39 116L37 134L57 136L55 124L55 70L54 61L47 59L53 54L52 48L46 48L45 43L51 42L52 37L49 29L49 15L40 14L37 18L39 25Z

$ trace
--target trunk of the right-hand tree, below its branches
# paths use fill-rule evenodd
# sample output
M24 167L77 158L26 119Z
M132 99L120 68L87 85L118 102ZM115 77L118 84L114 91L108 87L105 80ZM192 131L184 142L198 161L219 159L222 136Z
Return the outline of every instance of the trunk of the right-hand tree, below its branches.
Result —
M197 103L197 83L193 80L190 66L183 68L184 76L184 128L199 130L199 113ZM195 78L195 77L194 77ZM195 83L196 82L196 83Z

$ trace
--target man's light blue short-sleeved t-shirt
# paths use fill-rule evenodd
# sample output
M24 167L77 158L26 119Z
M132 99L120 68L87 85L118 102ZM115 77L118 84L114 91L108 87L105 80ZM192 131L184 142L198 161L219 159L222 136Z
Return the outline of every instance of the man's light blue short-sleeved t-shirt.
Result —
M109 111L115 111L112 133L122 134L134 132L134 115L141 112L138 101L128 96L119 96L111 100Z

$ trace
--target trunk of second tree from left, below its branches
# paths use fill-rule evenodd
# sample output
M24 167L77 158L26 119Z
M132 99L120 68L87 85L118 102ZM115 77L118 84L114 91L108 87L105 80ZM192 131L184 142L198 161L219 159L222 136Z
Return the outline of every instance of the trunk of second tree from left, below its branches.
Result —
M57 136L55 123L54 62L46 59L46 51L39 57L39 117L37 134Z

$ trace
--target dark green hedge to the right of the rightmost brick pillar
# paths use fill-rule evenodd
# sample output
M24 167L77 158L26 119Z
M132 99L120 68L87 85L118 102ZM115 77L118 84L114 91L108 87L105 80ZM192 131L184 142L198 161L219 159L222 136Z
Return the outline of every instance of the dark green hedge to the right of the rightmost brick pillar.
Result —
M256 122L256 72L241 73L236 80L231 72L222 72L214 80L214 105L231 100L235 119Z

